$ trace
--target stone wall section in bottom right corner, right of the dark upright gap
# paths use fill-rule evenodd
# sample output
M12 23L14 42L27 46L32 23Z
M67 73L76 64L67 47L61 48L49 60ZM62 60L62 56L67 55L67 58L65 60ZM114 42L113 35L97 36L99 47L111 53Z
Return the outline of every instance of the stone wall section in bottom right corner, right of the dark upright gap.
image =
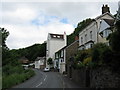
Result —
M120 88L120 75L110 67L98 67L90 72L90 87Z

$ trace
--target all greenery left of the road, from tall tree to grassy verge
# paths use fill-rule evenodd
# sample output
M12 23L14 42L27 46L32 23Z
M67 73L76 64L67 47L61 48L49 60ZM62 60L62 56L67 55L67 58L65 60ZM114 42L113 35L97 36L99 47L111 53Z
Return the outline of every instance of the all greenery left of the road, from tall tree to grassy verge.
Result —
M21 55L16 50L9 50L6 39L9 32L0 28L2 35L2 88L10 88L19 84L34 75L33 70L24 70L18 59ZM1 77L0 77L1 78Z

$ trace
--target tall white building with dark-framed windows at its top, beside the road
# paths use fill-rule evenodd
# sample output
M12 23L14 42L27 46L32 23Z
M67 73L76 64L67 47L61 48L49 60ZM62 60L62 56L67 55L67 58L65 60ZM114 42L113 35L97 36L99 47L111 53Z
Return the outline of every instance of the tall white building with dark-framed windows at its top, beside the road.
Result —
M47 38L47 49L46 49L46 60L48 58L55 59L55 52L66 46L66 33L64 34L48 34ZM46 61L46 66L47 61ZM56 61L54 61L54 67L56 67Z

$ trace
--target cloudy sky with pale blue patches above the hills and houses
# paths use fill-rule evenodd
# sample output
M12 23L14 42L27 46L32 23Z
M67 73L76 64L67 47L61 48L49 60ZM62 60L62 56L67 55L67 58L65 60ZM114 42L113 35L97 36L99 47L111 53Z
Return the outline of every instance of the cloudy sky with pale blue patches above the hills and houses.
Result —
M10 49L25 48L43 43L48 33L71 34L78 22L101 15L103 4L116 14L119 0L113 1L2 0L0 27L10 33L6 41Z

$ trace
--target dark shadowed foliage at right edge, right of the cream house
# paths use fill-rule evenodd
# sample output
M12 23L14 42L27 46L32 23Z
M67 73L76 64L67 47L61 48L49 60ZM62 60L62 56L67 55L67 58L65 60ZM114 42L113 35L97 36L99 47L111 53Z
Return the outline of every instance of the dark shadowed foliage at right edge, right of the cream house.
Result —
M120 8L119 8L120 9ZM111 66L113 67L113 71L120 70L120 12L118 12L116 17L116 22L114 26L114 32L111 34L109 38L110 47L113 51L112 53L112 62Z

